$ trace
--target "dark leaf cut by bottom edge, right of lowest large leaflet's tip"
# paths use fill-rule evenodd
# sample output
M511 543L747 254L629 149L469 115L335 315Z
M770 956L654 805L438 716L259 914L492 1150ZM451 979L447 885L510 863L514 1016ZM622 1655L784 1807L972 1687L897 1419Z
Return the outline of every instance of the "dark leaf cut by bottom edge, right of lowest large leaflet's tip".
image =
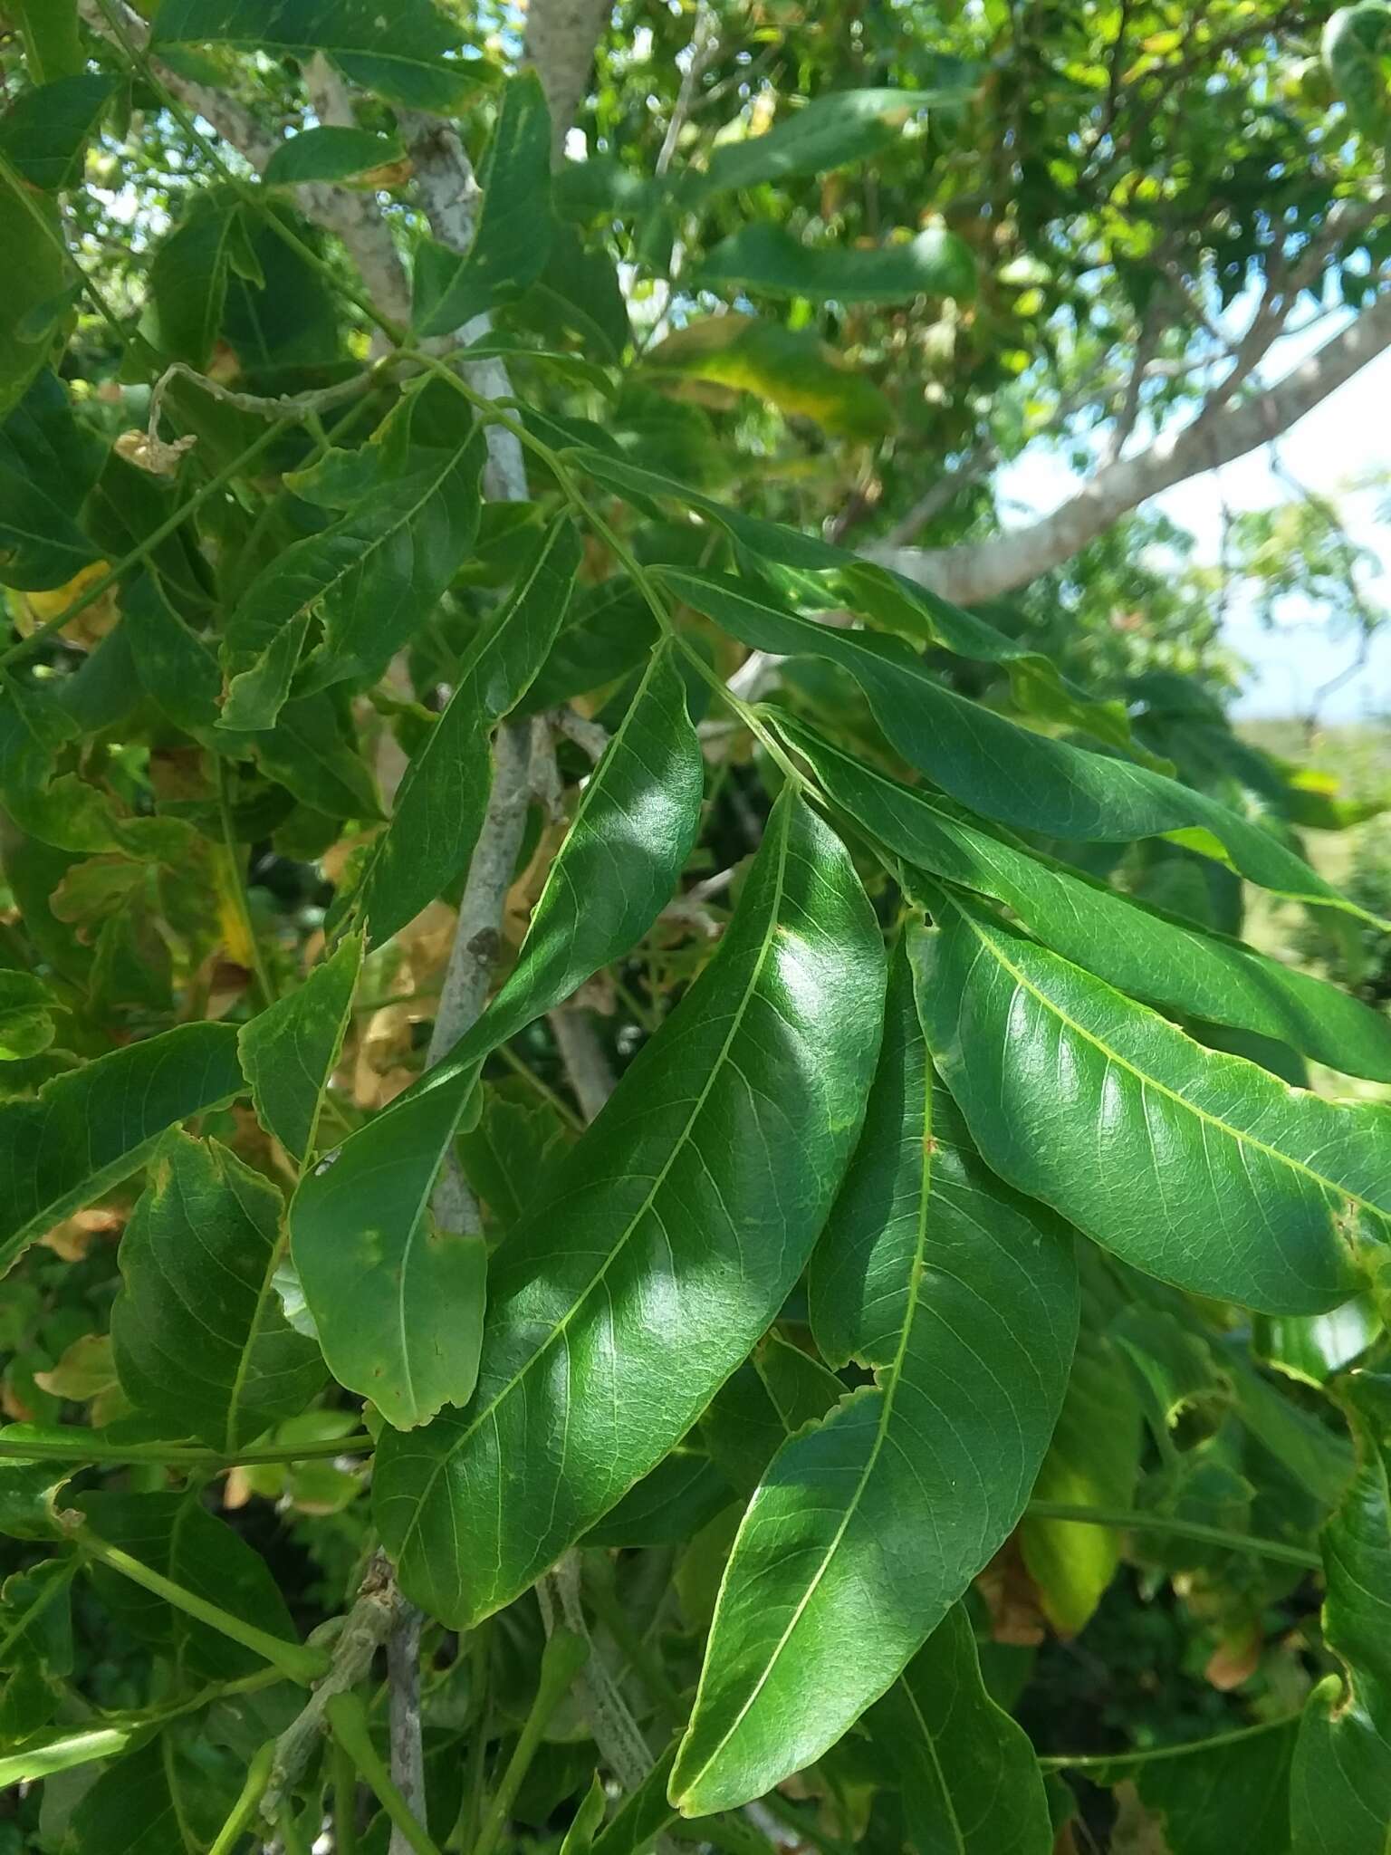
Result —
M1050 1855L1039 1760L981 1681L970 1618L953 1605L868 1716L898 1772L911 1848L942 1855Z

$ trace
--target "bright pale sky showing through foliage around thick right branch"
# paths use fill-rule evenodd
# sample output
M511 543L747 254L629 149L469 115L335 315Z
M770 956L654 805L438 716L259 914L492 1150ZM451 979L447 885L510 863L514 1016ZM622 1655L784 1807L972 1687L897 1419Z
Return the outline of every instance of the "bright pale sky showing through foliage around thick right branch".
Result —
M1330 325L1317 338L1285 341L1270 354L1269 377L1280 378L1308 351L1326 341ZM1378 579L1367 581L1369 595L1387 607L1387 629L1372 638L1367 668L1343 684L1324 705L1326 722L1391 716L1391 527L1376 519L1376 493L1348 493L1346 484L1372 471L1391 473L1391 351L1315 406L1280 441L1287 469L1309 490L1334 497L1348 532L1382 562ZM1217 479L1217 480L1215 480ZM1037 445L1024 453L1002 480L1003 493L1020 508L1044 512L1063 499L1072 477L1059 453ZM1269 508L1285 501L1289 488L1272 473L1265 449L1220 471L1193 477L1163 495L1161 508L1198 540L1198 558L1215 562L1220 551L1222 503L1228 508ZM1022 518L1015 518L1022 519ZM1231 601L1226 636L1252 673L1235 712L1243 716L1289 716L1304 710L1308 692L1334 677L1356 655L1356 640L1330 638L1321 614L1308 607L1287 614L1270 631L1241 601Z

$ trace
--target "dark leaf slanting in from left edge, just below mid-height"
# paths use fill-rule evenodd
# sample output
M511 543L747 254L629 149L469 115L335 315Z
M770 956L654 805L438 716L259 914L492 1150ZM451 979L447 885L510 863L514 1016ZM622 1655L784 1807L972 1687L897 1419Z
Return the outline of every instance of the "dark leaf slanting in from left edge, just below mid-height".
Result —
M0 1102L0 1267L59 1217L119 1183L189 1115L241 1091L230 1024L180 1024Z

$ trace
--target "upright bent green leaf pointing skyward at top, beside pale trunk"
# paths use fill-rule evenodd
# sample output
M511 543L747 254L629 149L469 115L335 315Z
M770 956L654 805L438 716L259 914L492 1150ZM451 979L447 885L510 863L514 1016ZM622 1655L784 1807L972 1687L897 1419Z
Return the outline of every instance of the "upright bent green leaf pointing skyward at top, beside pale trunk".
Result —
M464 258L427 245L415 258L412 325L447 336L475 315L516 301L545 269L551 249L551 113L534 70L503 91L479 174L482 208Z

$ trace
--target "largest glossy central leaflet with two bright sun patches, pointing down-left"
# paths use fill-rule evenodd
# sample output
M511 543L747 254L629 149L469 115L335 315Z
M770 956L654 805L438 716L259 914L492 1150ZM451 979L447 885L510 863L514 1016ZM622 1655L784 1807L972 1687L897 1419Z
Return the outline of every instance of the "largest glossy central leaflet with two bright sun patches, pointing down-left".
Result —
M788 788L714 959L499 1250L473 1404L384 1439L378 1527L425 1608L510 1603L749 1352L840 1183L881 987L849 859Z

